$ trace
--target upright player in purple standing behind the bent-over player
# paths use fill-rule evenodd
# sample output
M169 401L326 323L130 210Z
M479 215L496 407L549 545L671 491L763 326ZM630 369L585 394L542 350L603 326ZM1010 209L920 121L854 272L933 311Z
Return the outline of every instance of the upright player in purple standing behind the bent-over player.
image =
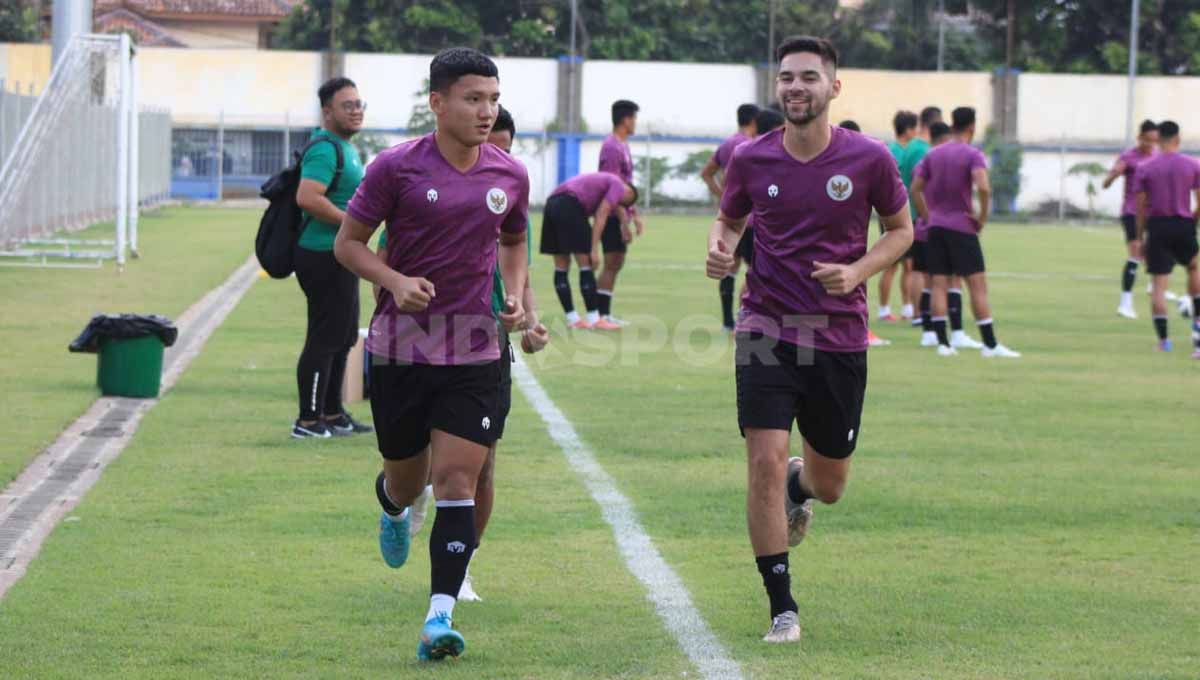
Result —
M606 137L604 144L600 145L599 170L612 173L630 186L634 185L634 155L629 150L629 138L637 132L637 104L629 100L613 102L612 134ZM634 230L629 227L630 222L634 223ZM601 239L604 271L600 272L600 279L596 282L600 320L592 324L594 329L614 331L624 325L624 321L612 315L612 293L617 287L617 273L625 266L625 252L629 249L629 242L634 240L635 230L638 236L646 230L636 206L620 207L605 223Z

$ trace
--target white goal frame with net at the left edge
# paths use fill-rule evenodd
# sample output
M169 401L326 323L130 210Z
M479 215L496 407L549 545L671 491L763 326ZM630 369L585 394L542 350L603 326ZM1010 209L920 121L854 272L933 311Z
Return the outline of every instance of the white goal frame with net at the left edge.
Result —
M136 96L130 36L76 35L31 107L18 101L16 116L13 107L0 107L10 128L19 128L0 167L5 264L86 266L78 260L115 259L124 266L128 252L137 254ZM62 235L109 219L112 239Z

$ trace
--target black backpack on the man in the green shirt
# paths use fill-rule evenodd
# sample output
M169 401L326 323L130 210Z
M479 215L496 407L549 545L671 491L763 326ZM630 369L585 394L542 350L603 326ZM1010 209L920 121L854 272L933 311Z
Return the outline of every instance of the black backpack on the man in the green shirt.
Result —
M263 182L259 195L271 201L263 212L263 218L258 222L258 235L254 236L254 254L258 255L258 264L271 275L271 278L287 278L294 269L292 264L292 251L304 231L304 212L296 205L296 189L300 187L300 164L304 155L314 145L329 142L337 154L337 167L334 169L334 179L325 188L325 195L337 189L337 181L342 179L342 145L328 137L318 137L304 149L293 151L293 162L289 167L275 173Z

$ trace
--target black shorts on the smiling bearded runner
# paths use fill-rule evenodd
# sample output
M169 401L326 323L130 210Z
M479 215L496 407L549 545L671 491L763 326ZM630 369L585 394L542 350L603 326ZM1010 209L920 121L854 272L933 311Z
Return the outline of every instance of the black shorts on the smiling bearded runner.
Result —
M866 395L865 351L799 348L762 333L737 335L738 428L786 429L794 421L817 453L854 452Z

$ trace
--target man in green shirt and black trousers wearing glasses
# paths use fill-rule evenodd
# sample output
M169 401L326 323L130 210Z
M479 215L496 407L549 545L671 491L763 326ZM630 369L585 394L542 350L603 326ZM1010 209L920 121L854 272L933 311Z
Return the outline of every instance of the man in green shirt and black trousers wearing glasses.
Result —
M362 158L350 139L362 130L367 106L349 78L328 80L317 97L320 127L300 162L296 191L304 222L294 264L308 308L296 362L300 415L292 427L296 439L372 432L342 407L346 357L359 335L359 277L334 258L346 205L362 181Z

